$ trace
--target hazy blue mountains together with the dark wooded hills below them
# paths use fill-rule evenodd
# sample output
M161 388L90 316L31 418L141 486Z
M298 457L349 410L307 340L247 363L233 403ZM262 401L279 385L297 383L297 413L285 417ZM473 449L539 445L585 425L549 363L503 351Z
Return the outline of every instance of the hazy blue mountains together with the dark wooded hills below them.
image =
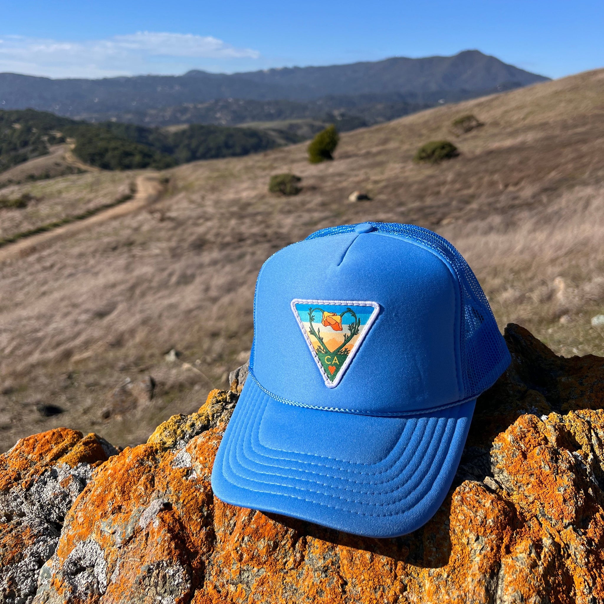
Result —
M0 185L71 173L74 163L63 165L51 149L66 141L97 169L164 169L298 143L327 124L346 132L543 80L478 51L231 75L0 74ZM7 173L49 153L52 162L38 162L31 173Z

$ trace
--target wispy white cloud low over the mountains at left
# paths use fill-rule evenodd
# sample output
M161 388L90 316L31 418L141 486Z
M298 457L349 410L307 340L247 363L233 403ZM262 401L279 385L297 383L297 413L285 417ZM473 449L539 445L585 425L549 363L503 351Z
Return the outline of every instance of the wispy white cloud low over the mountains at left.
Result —
M0 72L49 77L109 77L176 74L191 68L252 66L260 53L211 36L138 31L106 40L69 42L0 36Z

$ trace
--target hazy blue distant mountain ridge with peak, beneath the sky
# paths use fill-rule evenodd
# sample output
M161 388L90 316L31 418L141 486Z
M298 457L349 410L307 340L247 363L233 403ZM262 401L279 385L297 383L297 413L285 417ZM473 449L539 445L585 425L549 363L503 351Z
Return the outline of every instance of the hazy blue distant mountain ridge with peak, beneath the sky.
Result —
M212 74L191 70L182 76L132 76L100 80L49 79L0 74L2 109L38 109L66 117L159 109L220 98L310 101L329 95L391 94L416 97L438 91L473 92L517 88L548 78L503 63L480 51L451 57L269 69Z

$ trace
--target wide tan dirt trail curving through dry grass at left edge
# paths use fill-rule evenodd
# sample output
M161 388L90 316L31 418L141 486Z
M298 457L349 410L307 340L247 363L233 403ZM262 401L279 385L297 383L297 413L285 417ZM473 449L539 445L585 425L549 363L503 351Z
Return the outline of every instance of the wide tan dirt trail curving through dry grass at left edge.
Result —
M106 220L126 216L126 214L140 210L146 205L152 204L162 191L162 185L159 182L159 175L157 174L144 174L138 176L136 182L137 192L129 201L125 201L123 204L116 205L115 207L108 208L107 210L101 210L98 212L98 214L93 214L88 218L77 220L77 222L57 226L57 228L52 231L38 233L36 235L32 235L31 237L25 237L24 239L10 243L5 247L0 248L0 262L17 257L23 257L24 255L40 249L40 247L43 245L47 245L48 243L59 239L71 237L76 233L80 233L88 228L91 228L91 226L100 224L101 222L106 222Z

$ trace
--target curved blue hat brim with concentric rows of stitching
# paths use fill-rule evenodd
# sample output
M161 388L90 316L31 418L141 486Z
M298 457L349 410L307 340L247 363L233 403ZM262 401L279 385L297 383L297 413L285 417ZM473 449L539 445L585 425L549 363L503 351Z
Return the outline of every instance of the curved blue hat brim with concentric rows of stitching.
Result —
M405 535L443 503L474 406L405 417L338 413L282 403L249 377L212 489L226 503L355 535Z

